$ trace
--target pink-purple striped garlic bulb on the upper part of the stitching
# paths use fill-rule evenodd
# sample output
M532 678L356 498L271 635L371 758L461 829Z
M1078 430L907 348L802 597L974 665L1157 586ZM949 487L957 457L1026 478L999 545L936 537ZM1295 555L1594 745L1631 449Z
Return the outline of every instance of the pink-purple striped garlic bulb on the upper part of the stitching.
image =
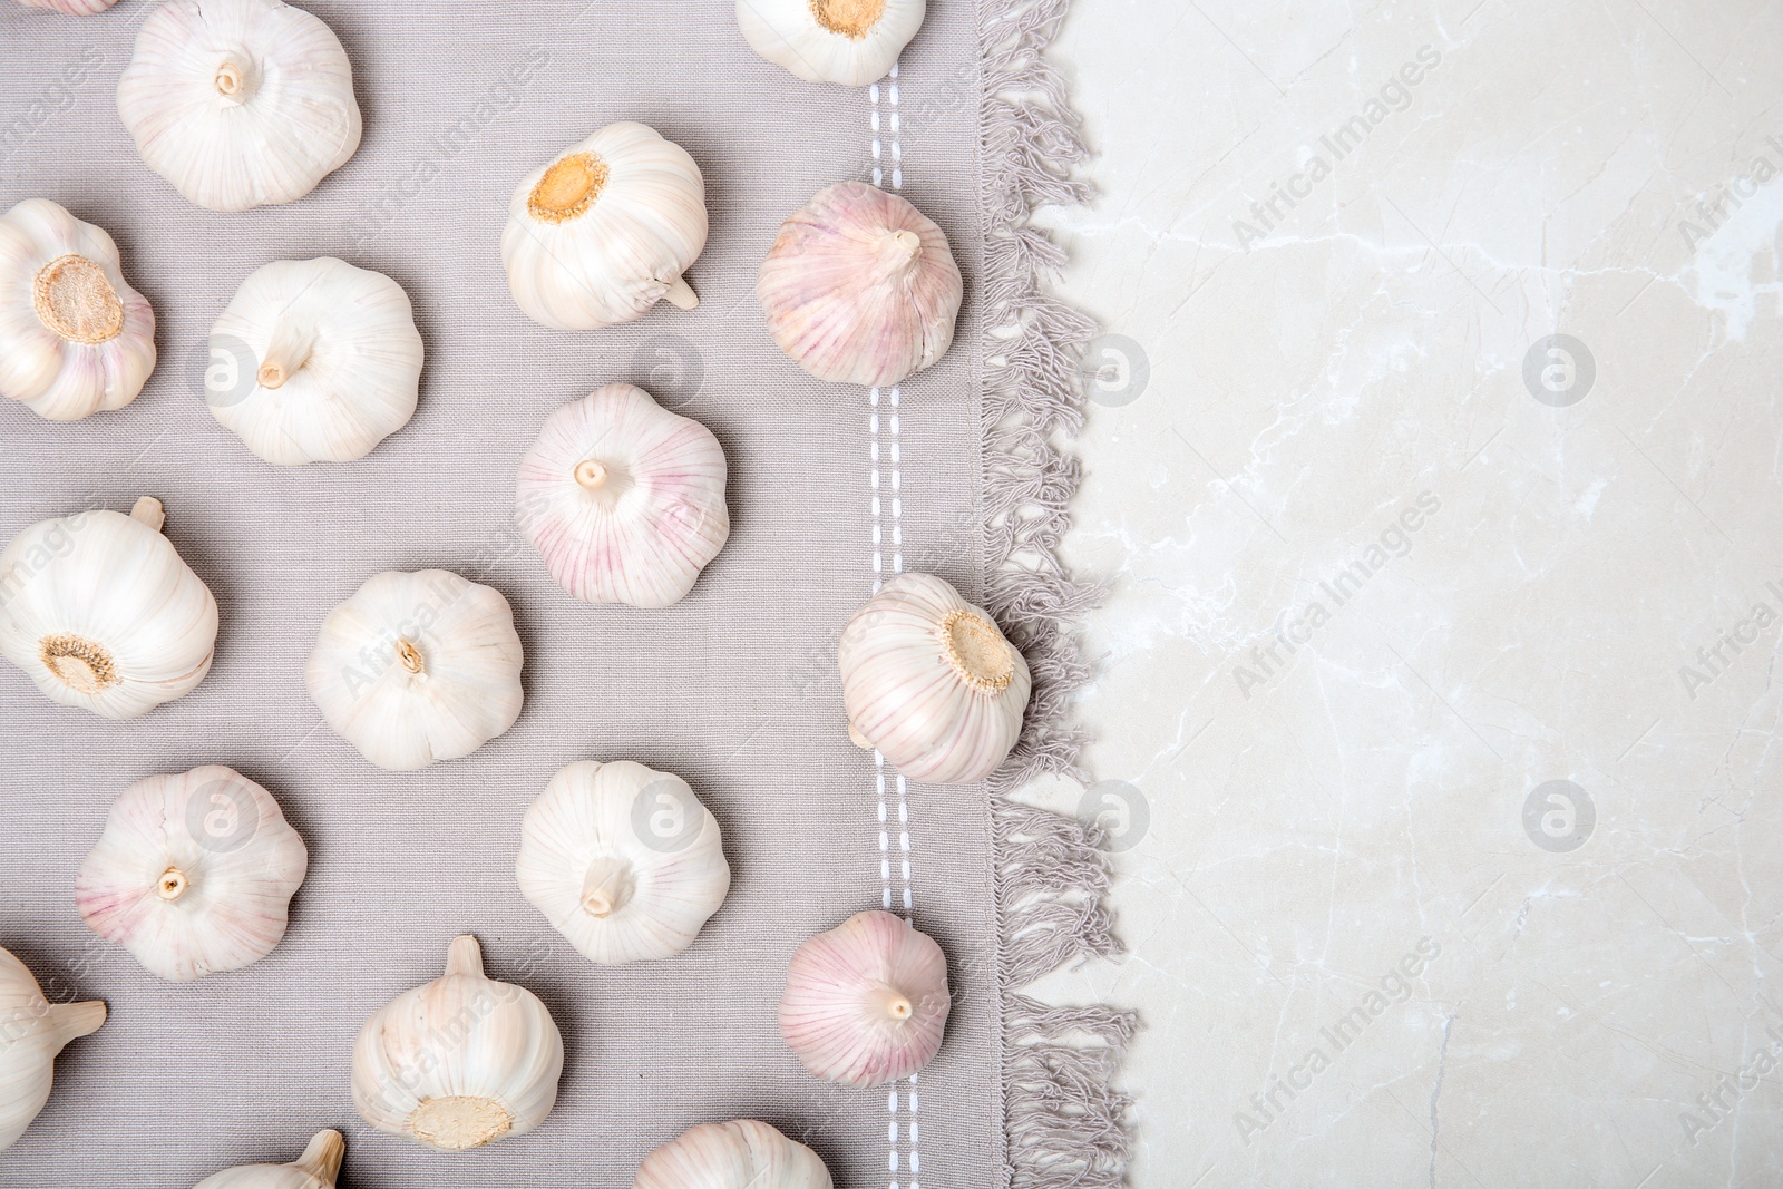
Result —
M822 189L786 219L756 278L781 351L818 380L870 387L947 353L963 291L941 228L863 182Z

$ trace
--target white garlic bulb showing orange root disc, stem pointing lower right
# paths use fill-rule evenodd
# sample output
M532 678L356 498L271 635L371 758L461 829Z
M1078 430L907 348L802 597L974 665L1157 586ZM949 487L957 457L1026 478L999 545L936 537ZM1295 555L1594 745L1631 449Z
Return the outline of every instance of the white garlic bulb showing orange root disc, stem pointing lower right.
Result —
M706 182L686 150L613 123L533 169L514 191L501 262L514 299L553 330L644 317L699 298L681 273L706 248Z

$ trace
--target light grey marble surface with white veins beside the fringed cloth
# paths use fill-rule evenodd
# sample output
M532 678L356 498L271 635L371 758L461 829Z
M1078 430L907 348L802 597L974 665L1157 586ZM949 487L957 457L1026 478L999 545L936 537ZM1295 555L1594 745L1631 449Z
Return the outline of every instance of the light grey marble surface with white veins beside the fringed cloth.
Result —
M1783 1184L1783 5L1077 0L1056 57L1061 291L1150 362L1068 544L1150 822L1045 991L1143 1014L1132 1184Z

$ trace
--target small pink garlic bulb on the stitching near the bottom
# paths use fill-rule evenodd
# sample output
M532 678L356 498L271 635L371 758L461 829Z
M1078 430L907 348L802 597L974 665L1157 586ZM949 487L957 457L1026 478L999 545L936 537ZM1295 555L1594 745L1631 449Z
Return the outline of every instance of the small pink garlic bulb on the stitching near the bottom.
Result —
M856 913L792 955L781 1036L826 1082L865 1089L934 1059L947 1025L947 957L892 913Z

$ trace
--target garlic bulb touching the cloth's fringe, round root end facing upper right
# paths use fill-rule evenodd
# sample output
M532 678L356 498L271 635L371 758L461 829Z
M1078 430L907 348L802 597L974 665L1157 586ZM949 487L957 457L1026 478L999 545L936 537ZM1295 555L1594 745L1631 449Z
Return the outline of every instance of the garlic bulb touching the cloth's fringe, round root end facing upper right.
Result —
M982 781L1022 738L1032 679L991 617L931 574L899 574L838 649L849 734L913 781Z

